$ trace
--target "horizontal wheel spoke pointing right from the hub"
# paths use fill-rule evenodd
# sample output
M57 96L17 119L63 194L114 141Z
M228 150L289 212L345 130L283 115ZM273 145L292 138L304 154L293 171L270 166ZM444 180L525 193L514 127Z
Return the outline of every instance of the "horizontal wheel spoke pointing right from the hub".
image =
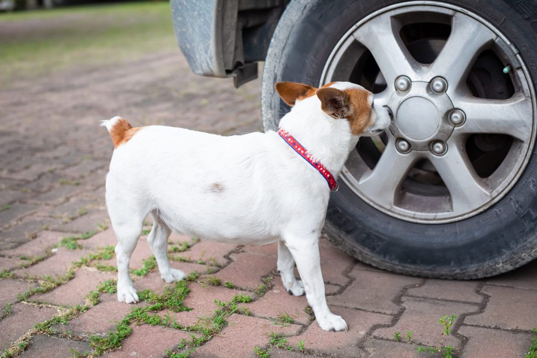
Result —
M510 135L528 141L532 133L531 100L519 95L508 100L461 98L454 101L466 114L466 122L455 133Z

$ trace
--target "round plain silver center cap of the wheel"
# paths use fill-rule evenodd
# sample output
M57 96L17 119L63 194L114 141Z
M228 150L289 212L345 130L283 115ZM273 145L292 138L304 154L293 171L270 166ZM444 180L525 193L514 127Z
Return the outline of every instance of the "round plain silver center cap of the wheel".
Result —
M396 123L408 138L423 140L438 129L440 115L434 104L423 97L411 97L397 108Z

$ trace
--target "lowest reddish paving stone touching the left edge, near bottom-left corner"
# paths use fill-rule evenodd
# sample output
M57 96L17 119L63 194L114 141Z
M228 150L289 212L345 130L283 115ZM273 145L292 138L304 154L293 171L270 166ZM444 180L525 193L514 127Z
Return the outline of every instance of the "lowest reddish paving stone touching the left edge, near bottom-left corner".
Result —
M35 324L44 322L57 314L55 308L33 307L30 304L17 303L11 307L7 317L0 320L0 350L7 349L11 343L30 330Z

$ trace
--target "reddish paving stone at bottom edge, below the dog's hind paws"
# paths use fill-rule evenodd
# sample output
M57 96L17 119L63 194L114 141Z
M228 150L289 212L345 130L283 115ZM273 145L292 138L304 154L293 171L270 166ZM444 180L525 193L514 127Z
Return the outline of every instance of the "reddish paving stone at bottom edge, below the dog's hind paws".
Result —
M103 355L106 358L144 357L161 358L167 350L175 349L182 339L189 339L184 331L162 326L132 326L132 333L123 342L121 348Z

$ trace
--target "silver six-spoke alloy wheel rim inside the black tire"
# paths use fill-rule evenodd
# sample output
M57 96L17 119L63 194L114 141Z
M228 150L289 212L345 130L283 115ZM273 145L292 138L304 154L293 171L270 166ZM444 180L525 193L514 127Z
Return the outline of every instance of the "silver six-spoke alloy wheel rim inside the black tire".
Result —
M430 64L416 61L401 35L412 19L426 16L451 26ZM505 64L513 86L509 98L479 98L466 85L485 50ZM509 192L533 149L536 100L518 50L497 28L459 6L423 1L392 5L360 20L343 36L326 62L320 85L349 80L353 61L358 63L367 51L385 82L375 93L375 106L389 106L394 122L384 140L374 140L382 153L373 168L357 151L345 163L341 177L355 195L398 219L444 223L480 213ZM511 138L503 161L486 177L478 175L468 155L468 141L478 136ZM433 182L444 187L436 182L409 187L414 179L408 177L420 163L434 169L433 174L436 170Z

